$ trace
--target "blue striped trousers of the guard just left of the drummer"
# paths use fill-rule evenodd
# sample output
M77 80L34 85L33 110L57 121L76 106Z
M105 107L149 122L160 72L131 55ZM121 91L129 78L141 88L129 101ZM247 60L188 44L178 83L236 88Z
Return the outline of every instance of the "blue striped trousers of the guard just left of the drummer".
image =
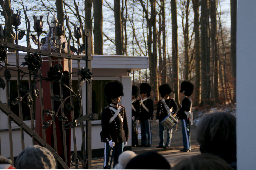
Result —
M141 145L151 145L152 144L151 121L147 119L147 120L141 120L140 122L141 122Z

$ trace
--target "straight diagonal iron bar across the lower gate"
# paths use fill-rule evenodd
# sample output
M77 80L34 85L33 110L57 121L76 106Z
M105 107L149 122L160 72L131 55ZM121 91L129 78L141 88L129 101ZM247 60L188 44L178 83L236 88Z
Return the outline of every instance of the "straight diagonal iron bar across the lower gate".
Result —
M43 147L45 147L46 149L48 149L53 156L55 157L55 159L57 159L57 162L59 163L59 165L61 165L61 167L63 169L69 169L69 167L66 165L66 163L61 159L61 157L57 154L57 152L55 152L53 150L52 147L50 147L48 145L48 143L46 143L37 133L34 132L34 130L32 130L29 126L27 126L18 116L16 116L15 113L13 113L9 108L6 107L5 104L2 103L2 101L0 101L0 109L9 117L12 118L12 120L20 127L22 127L23 130L26 131L26 133L28 135L30 135L31 137L34 137L35 140Z

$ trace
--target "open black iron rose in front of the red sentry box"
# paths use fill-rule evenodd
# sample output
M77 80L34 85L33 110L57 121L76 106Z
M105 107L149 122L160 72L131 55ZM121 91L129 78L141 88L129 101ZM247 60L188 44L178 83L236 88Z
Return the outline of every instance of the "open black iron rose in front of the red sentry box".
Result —
M60 80L64 77L63 66L61 64L55 64L53 67L49 68L47 71L48 80Z

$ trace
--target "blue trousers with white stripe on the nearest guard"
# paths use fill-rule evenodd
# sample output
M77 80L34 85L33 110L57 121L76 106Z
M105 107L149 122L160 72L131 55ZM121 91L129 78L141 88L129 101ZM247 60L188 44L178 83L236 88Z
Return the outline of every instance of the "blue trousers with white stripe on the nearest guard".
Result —
M112 160L114 160L113 168L115 167L115 164L118 163L118 157L123 152L123 147L124 147L124 142L123 143L115 143L115 146L112 148L113 151L112 151L112 156L111 156L110 165L109 165L110 168L111 168ZM107 143L105 143L103 168L107 165L107 158L109 156L109 150L110 150L109 145L107 145Z

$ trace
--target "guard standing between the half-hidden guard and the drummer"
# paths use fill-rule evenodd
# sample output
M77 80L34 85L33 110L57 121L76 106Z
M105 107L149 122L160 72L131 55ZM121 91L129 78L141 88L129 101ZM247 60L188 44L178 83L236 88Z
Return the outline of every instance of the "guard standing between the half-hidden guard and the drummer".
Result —
M151 120L153 119L153 101L149 98L151 86L142 83L139 86L142 99L139 101L139 117L141 122L141 145L139 147L151 147L152 131ZM147 134L147 135L146 135ZM146 139L147 138L147 139Z

